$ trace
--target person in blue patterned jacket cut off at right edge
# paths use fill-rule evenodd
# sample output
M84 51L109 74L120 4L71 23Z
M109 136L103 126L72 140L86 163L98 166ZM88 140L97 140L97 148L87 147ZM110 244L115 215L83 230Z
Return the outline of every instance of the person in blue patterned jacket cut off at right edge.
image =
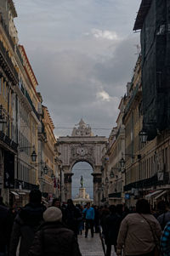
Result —
M170 256L170 222L167 223L161 235L161 255Z

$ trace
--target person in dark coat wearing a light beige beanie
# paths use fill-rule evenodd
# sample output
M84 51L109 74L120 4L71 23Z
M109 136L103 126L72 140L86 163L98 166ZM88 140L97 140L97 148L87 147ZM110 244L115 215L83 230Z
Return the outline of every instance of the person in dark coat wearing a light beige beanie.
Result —
M61 223L59 208L48 208L43 219L45 222L35 235L29 256L82 256L74 232Z

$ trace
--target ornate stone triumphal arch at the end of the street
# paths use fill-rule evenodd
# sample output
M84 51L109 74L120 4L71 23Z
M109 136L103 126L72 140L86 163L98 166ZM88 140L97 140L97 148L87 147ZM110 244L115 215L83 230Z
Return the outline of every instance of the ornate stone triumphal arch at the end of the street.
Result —
M59 159L64 172L64 187L67 188L65 201L71 198L71 173L77 162L88 162L94 173L94 203L99 205L99 191L102 187L102 156L105 154L107 139L105 136L94 136L92 129L83 120L73 128L71 136L59 137Z

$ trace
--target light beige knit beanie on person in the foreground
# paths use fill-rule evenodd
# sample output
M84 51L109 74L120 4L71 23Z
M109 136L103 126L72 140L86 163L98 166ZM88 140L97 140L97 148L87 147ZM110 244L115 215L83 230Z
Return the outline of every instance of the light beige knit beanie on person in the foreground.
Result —
M43 213L43 219L46 222L61 221L62 213L59 208L50 207Z

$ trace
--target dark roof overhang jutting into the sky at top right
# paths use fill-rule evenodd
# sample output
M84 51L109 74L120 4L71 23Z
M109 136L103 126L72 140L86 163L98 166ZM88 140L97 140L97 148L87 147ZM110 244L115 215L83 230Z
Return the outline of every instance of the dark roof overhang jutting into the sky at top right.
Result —
M142 3L140 3L140 8L134 23L133 31L142 29L144 19L149 12L151 3L152 0L142 0Z

